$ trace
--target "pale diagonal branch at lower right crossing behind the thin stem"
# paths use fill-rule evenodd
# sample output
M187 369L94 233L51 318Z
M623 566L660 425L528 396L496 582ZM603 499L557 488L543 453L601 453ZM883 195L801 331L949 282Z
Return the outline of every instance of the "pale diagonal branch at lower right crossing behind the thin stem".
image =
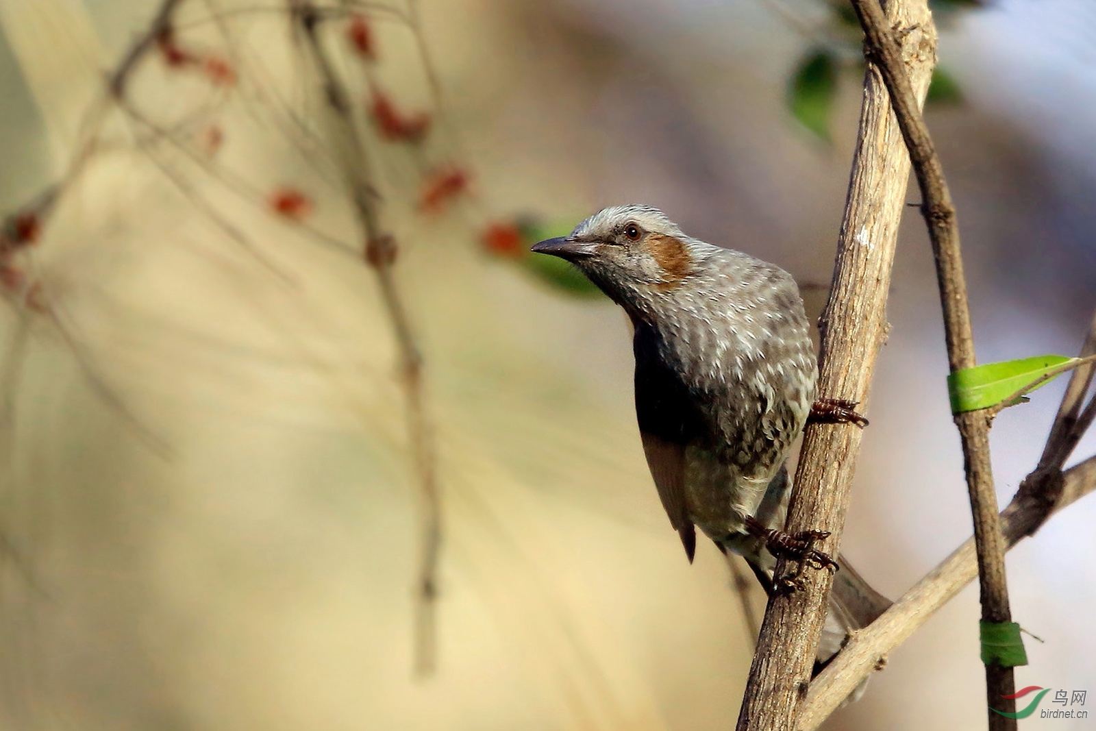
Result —
M1034 534L1053 513L1096 491L1096 457L1062 472L1038 471L1025 480L1020 491L1001 513L1006 548ZM1057 487L1054 487L1057 486ZM1048 500L1049 493L1057 498ZM904 642L940 607L978 575L974 539L968 539L907 591L879 619L853 637L811 683L799 717L799 731L814 731L874 673L887 654Z

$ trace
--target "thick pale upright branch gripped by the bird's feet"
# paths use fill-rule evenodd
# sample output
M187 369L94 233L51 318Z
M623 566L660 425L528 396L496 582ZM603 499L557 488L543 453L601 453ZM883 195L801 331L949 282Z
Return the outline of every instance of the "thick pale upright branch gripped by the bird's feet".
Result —
M912 26L903 46L921 98L935 62L936 35L924 0L891 0L891 18ZM820 323L819 395L865 402L876 357L887 334L884 317L910 159L878 70L864 82L859 139L837 244L833 288ZM806 430L786 529L817 529L831 536L820 550L837 553L849 487L860 446L849 424L811 424ZM777 575L788 571L785 561ZM778 593L768 603L754 653L739 731L796 728L807 697L814 651L826 610L829 572L809 571L804 591Z

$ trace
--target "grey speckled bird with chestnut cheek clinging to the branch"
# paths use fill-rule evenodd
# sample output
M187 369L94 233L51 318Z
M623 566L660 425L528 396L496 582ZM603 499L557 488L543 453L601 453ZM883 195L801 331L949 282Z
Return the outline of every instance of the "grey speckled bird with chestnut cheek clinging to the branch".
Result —
M643 205L604 208L532 250L573 264L630 319L643 453L689 562L700 528L769 594L779 555L836 570L819 649L820 661L832 656L890 601L844 557L813 549L827 534L783 532L788 453L808 419L867 423L854 403L815 400L818 357L795 279Z

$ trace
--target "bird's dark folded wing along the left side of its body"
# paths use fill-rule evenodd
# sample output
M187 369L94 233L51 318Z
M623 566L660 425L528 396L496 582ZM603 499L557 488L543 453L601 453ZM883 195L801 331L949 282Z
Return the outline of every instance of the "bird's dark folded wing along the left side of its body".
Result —
M688 388L663 361L657 331L637 325L633 350L636 416L643 454L670 524L681 536L692 562L696 552L696 528L685 504L685 447L697 436L700 414Z

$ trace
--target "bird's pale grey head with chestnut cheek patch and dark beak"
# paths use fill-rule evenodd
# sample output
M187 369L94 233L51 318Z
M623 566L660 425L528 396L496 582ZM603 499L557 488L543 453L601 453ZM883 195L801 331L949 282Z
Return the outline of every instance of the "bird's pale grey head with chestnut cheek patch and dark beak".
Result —
M566 259L610 299L630 311L648 309L697 271L696 244L676 224L647 206L614 206L579 224L570 236L540 241L533 251Z

